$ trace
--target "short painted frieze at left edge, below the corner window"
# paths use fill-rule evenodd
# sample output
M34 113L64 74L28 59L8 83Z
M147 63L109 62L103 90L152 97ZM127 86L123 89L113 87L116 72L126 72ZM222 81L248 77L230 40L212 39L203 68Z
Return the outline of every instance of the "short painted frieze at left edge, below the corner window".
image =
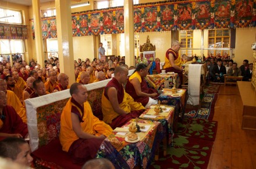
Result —
M27 39L27 26L0 24L0 39Z

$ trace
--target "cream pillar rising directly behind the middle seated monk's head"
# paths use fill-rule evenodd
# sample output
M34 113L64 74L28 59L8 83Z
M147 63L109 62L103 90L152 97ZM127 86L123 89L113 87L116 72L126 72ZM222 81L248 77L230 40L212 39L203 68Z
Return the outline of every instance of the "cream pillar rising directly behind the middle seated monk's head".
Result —
M130 67L135 65L133 1L125 0L123 9L125 13L125 63Z

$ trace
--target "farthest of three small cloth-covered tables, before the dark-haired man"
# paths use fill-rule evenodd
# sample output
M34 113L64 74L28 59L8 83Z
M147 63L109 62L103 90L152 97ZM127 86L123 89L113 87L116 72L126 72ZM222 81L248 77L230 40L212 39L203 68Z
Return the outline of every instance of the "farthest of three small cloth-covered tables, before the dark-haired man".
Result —
M163 89L162 93L159 95L158 100L162 104L175 106L175 113L173 117L173 130L176 130L177 119L179 115L183 117L186 108L188 94L186 89L177 89L177 93L172 93L172 90Z

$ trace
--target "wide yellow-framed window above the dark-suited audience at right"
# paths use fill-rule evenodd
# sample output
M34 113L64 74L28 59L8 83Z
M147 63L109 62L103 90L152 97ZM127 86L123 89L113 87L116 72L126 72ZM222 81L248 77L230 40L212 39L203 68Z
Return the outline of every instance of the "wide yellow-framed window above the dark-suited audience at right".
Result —
M209 53L212 53L214 56L217 54L223 53L229 54L230 47L230 32L229 30L209 30L208 32L208 48L222 48L221 50L209 50ZM224 48L224 49L223 49ZM225 49L226 48L226 49Z

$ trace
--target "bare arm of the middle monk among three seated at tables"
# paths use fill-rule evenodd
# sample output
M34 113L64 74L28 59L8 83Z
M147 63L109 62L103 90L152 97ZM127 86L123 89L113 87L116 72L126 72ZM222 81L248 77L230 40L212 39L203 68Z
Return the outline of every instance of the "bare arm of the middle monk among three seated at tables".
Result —
M108 95L113 110L116 113L119 113L119 115L126 115L127 112L123 111L123 109L121 109L118 104L118 91L116 91L115 87L109 87L109 89L106 91L106 94Z

